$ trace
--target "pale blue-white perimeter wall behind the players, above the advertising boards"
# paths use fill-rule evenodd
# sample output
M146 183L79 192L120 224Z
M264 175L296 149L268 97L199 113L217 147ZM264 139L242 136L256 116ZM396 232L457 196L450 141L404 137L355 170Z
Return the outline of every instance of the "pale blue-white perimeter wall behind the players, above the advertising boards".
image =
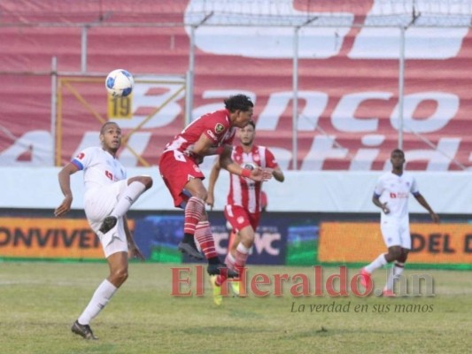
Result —
M0 168L0 207L54 209L62 201L59 168ZM378 212L372 204L377 177L383 172L285 172L285 181L265 183L269 211L274 212ZM156 167L128 168L128 176L151 175L154 186L134 204L135 210L175 210ZM205 175L209 175L208 172ZM439 213L472 214L472 173L414 173L419 189ZM73 209L83 208L82 173L72 176ZM207 180L204 181L205 185ZM221 172L214 210L226 202L228 173ZM411 212L425 212L410 198Z

